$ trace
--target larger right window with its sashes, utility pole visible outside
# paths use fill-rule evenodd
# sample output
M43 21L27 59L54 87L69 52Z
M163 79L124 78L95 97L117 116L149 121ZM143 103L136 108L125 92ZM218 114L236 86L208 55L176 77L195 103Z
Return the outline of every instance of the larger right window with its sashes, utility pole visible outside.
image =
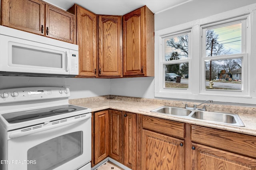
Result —
M204 25L202 29L202 93L247 95L243 74L247 63L247 16ZM240 76L235 76L239 72Z

